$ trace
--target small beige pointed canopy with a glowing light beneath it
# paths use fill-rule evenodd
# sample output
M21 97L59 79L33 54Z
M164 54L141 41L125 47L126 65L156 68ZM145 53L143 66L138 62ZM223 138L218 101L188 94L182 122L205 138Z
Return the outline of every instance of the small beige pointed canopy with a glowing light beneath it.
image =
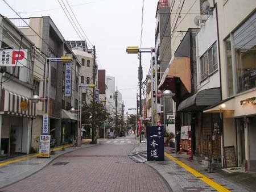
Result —
M218 102L213 106L205 108L203 112L233 112L234 106L234 97L232 97L225 99L224 101Z

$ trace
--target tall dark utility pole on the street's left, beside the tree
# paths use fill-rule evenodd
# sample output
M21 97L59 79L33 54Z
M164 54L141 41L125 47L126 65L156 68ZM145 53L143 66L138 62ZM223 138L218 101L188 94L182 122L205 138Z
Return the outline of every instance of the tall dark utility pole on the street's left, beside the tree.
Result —
M95 85L95 81L96 81L96 70L97 70L96 49L95 49L95 45L93 45L93 85ZM93 98L93 110L92 110L92 143L93 143L96 140L96 127L94 125L95 86L93 86L93 97L92 98Z

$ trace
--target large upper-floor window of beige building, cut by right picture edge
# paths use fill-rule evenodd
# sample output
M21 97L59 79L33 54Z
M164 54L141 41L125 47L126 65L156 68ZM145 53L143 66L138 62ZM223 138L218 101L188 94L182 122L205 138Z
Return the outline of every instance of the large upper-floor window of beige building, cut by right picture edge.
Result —
M237 93L256 87L256 13L234 32Z

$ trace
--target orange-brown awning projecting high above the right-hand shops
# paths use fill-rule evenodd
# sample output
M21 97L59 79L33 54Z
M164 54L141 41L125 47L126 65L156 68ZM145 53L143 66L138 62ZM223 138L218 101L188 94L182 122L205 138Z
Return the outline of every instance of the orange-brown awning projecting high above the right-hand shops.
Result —
M172 85L166 87L168 79L170 78L180 78L188 93L191 93L191 69L189 57L173 57L171 59L161 78L158 89L164 90L168 88L175 93L175 90L172 89Z

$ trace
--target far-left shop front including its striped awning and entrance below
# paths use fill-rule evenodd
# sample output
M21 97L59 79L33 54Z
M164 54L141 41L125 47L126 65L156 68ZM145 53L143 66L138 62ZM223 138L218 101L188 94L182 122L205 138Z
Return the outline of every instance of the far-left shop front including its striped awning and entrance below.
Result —
M35 103L5 89L1 103L1 157L29 153L32 120L36 117Z

